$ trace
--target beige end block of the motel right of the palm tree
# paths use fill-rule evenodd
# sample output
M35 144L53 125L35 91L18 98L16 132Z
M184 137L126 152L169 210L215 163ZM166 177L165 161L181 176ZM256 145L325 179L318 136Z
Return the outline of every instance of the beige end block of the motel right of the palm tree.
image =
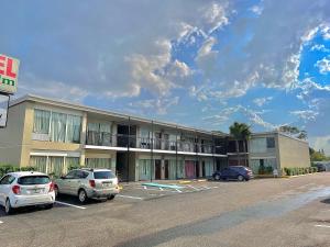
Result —
M309 145L280 132L254 133L249 141L249 166L257 172L260 166L282 168L310 167Z

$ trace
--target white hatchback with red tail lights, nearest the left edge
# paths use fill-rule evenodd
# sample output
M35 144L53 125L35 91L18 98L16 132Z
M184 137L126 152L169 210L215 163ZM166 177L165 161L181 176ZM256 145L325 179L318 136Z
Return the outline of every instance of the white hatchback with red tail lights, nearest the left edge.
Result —
M29 205L53 207L54 183L45 173L35 171L10 172L0 180L0 205L6 214Z

